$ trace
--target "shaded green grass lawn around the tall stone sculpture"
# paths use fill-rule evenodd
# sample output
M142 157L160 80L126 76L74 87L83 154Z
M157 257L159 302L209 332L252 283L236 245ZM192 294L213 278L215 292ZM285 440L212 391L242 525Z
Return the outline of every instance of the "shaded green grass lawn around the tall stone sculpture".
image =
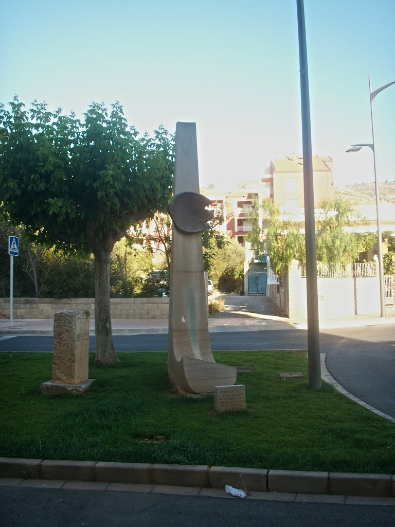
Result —
M395 425L325 383L309 391L306 352L214 356L254 367L237 378L246 411L215 414L213 395L175 395L165 353L120 353L115 366L95 364L92 354L96 380L81 396L40 393L51 354L2 353L0 455L395 473Z

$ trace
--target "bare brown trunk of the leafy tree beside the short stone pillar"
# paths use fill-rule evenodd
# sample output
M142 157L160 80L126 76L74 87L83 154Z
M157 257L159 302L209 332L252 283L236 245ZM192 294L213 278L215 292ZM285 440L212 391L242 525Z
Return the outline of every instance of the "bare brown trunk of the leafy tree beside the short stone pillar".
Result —
M96 360L101 363L117 362L111 328L110 262L111 248L98 247L95 257L95 335Z

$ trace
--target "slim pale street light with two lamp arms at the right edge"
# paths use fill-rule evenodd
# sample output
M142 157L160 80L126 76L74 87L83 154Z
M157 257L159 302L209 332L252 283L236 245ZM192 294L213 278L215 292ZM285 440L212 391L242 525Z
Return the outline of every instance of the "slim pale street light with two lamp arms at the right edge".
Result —
M376 190L376 215L377 215L377 243L378 243L378 258L379 258L379 279L380 279L380 313L382 317L386 316L386 293L384 291L384 262L383 262L383 247L382 247L382 236L381 236L381 222L380 222L380 198L379 198L379 178L377 171L377 154L376 154L376 138L374 136L374 114L373 114L373 101L374 97L382 90L395 84L395 81L384 84L377 90L372 92L372 81L369 75L369 95L370 95L370 115L372 120L372 143L359 143L353 144L353 148L349 148L347 152L357 152L362 147L370 147L373 151L373 165L374 165L374 188Z

